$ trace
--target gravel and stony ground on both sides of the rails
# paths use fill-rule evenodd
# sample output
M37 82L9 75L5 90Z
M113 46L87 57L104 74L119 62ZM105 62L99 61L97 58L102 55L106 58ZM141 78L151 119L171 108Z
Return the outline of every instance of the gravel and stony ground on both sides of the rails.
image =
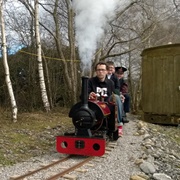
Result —
M72 174L80 180L179 180L179 146L168 143L163 134L147 128L146 123L139 121L137 116L129 114L128 119L130 122L123 127L123 136L109 155L101 158L100 162L92 162L93 167L84 167L87 172ZM14 166L0 167L0 179L8 180L11 176L23 174L63 156L53 153ZM42 177L37 179L43 180Z

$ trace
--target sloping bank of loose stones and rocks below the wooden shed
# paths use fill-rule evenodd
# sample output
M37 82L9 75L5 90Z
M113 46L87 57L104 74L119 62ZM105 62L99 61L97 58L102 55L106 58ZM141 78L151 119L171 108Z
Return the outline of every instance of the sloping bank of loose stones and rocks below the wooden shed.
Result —
M144 129L143 124L139 123L138 128L140 130ZM168 133L166 134L166 131L169 132L170 127L147 124L145 128L146 133L141 143L142 152L138 158L145 160L139 165L141 171L149 176L153 175L153 179L156 180L179 180L180 146L169 138ZM159 131L160 128L161 131ZM180 136L178 131L176 135Z

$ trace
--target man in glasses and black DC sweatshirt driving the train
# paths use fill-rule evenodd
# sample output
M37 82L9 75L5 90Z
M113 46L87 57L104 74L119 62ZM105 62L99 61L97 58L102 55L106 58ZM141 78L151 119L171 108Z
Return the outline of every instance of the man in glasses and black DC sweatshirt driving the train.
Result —
M96 76L88 81L88 94L90 99L103 96L105 101L112 101L112 94L115 93L114 82L107 78L108 66L105 62L99 62L95 66ZM115 95L117 105L118 132L122 136L122 102L119 95Z

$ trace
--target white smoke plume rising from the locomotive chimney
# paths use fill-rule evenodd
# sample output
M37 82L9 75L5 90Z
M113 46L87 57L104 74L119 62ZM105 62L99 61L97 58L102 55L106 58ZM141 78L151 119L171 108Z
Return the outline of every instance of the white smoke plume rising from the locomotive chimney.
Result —
M90 70L97 43L114 14L116 0L73 0L76 40L84 68Z

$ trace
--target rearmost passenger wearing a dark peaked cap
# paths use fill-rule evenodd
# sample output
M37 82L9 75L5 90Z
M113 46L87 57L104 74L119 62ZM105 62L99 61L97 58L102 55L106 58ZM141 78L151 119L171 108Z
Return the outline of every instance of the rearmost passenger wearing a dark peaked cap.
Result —
M126 117L126 113L130 112L130 96L128 92L128 84L124 80L124 72L126 71L127 71L127 68L123 66L115 67L115 74L117 75L119 79L120 92L125 97L124 104L123 104L124 105L124 117L123 117L124 123L129 122Z

